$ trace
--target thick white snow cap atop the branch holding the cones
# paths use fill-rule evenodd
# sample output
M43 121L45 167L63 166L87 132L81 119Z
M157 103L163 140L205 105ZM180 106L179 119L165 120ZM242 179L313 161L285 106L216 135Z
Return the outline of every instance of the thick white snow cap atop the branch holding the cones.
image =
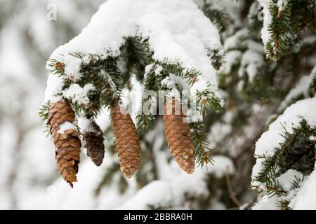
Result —
M81 34L57 48L50 59L64 63L65 75L77 80L80 78L79 68L87 63L87 59L79 59L70 54L81 52L103 58L109 55L119 56L119 48L128 36L149 38L153 58L159 62L179 62L187 71L199 70L202 76L198 77L198 82L208 83L215 96L220 98L216 71L207 55L207 50L221 49L220 36L216 27L192 0L107 1L100 6ZM55 75L51 73L48 78L46 101L60 92L62 84L61 80L51 76ZM85 92L77 85L62 94L79 104L88 102Z

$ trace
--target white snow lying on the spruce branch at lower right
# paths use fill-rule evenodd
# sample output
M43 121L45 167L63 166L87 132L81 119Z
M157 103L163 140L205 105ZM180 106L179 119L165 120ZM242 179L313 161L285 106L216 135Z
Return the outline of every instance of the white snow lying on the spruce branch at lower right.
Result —
M298 86L300 85L302 84L298 83ZM294 90L295 89L296 87ZM293 133L294 128L300 127L301 120L305 119L311 128L316 128L316 114L310 113L310 111L315 110L316 97L303 99L289 106L281 116L269 125L268 131L263 133L261 138L256 142L256 165L253 167L253 178L258 176L262 171L265 158L274 155L276 148L279 148L279 144L284 143L286 139L282 136L285 136L286 133ZM304 196L305 192L309 191L309 189L315 189L316 182L313 180L315 179L314 173L315 171L310 174L308 181L303 181L306 177L303 176L301 172L294 169L287 170L287 172L281 174L276 179L279 186L281 186L286 193L284 193L282 197L273 196L268 198L268 195L266 195L259 200L258 204L256 204L253 209L277 209L275 204L279 200L290 201L291 203L289 204L289 207L292 209L303 208L303 204L308 204L305 208L315 207L315 200L309 201L310 197L313 198L315 194L308 192L310 197L307 198ZM294 186L294 181L298 183L298 186ZM260 187L262 183L253 180L251 185ZM314 202L314 204L312 204L312 202Z

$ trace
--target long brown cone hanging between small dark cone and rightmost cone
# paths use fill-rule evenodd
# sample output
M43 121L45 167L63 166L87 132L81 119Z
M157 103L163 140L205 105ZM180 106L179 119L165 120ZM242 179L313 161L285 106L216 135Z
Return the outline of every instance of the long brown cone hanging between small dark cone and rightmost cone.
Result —
M127 111L119 106L111 111L112 127L119 154L121 172L127 178L131 178L138 169L140 163L140 142L136 127Z

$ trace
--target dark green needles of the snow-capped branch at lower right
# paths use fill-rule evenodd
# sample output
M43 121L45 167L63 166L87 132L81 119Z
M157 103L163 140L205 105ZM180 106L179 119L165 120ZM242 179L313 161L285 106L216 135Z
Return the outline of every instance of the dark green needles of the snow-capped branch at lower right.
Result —
M294 169L303 175L309 175L313 171L315 142L311 141L310 137L315 134L316 130L311 128L304 119L301 120L299 127L293 129L293 133L285 130L285 135L283 135L285 141L279 144L279 148L275 148L273 155L257 156L257 159L264 160L261 162L261 171L253 177L253 180L262 183L264 187L251 186L251 188L270 197L277 195L281 198L279 205L287 208L283 196L287 196L288 192L282 188L277 178L289 169ZM298 188L302 181L303 179L294 176L292 189Z

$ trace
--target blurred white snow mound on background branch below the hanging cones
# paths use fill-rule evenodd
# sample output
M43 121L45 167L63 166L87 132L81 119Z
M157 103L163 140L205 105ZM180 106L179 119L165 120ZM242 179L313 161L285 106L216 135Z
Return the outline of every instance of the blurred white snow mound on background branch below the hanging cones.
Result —
M209 169L196 169L194 175L181 173L173 179L153 181L140 189L136 195L117 209L148 209L148 205L155 204L162 207L177 207L183 204L186 196L207 197L209 190L204 178L206 174L213 174L217 179L225 173L234 174L235 166L230 158L214 156L214 166Z

